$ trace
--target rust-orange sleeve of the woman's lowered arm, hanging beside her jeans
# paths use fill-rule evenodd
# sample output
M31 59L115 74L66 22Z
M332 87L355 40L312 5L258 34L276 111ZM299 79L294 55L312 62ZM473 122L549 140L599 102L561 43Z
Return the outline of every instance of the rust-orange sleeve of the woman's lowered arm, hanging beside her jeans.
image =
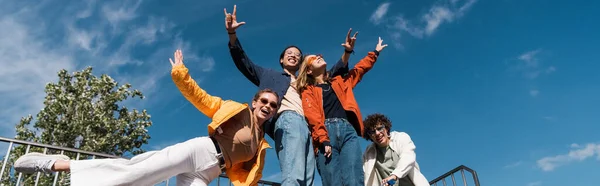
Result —
M308 129L310 129L310 135L314 141L319 142L319 144L315 144L317 147L321 147L321 145L329 145L329 136L327 135L327 128L325 128L325 121L322 120L321 112L318 107L315 95L312 94L312 89L310 87L304 91L302 91L302 109L304 111L304 116L308 122Z

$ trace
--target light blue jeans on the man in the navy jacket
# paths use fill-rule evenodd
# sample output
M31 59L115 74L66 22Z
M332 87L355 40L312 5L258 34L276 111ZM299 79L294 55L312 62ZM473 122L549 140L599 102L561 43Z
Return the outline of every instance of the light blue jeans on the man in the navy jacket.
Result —
M315 153L304 116L283 111L275 123L275 151L281 168L281 185L313 185Z

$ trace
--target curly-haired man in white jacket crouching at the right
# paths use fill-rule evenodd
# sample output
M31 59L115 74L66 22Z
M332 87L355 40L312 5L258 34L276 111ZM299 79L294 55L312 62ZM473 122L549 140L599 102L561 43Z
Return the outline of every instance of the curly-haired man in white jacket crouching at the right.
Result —
M363 154L365 186L429 186L416 161L415 145L404 132L390 132L392 122L383 114L371 114L364 121L365 139L373 143Z

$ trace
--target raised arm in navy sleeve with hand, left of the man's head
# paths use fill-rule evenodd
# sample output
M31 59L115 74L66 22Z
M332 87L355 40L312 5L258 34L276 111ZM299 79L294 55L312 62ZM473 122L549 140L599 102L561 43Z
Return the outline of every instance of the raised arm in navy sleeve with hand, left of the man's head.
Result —
M233 6L233 13L227 13L226 9L223 9L225 12L225 29L229 35L229 53L231 54L231 58L233 59L233 63L238 68L244 76L250 80L254 85L260 85L260 77L265 69L261 66L254 64L244 49L242 48L242 44L237 38L236 29L246 22L237 22L237 6Z

